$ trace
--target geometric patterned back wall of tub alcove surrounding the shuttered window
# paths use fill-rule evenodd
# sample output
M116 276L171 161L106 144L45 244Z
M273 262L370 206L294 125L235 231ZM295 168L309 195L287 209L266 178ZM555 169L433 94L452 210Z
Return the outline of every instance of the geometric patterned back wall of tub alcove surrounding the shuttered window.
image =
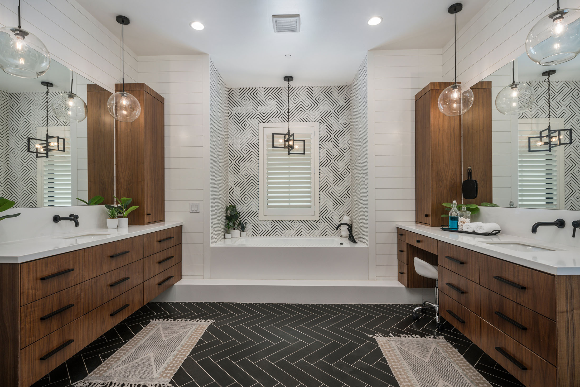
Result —
M291 122L320 122L319 220L259 220L260 122L287 122L284 87L228 91L229 201L248 223L248 236L331 236L350 214L350 88L296 86L290 91Z

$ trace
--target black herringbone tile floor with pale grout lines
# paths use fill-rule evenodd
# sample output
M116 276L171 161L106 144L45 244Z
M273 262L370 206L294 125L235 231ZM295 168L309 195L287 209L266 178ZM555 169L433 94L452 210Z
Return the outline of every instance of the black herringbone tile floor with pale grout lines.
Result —
M214 319L175 373L175 387L396 387L367 334L443 335L494 387L522 387L455 328L413 305L150 302L32 387L70 387L151 319ZM449 327L449 325L447 325ZM451 327L449 327L451 328Z

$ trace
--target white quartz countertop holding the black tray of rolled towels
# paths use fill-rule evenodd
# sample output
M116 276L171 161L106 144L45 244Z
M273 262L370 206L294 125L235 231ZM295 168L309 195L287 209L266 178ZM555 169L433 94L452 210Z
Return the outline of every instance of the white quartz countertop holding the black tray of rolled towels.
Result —
M557 243L547 243L534 239L499 233L496 236L480 236L443 231L440 227L427 227L416 223L397 223L397 227L426 237L434 238L459 247L494 256L504 261L563 276L580 275L580 248ZM527 244L555 251L512 251L501 247L501 242Z

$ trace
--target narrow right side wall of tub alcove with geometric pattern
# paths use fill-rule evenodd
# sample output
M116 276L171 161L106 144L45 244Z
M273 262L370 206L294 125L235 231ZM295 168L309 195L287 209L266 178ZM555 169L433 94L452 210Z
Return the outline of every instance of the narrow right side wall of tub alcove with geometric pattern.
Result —
M368 246L367 56L350 85L350 206L353 233Z

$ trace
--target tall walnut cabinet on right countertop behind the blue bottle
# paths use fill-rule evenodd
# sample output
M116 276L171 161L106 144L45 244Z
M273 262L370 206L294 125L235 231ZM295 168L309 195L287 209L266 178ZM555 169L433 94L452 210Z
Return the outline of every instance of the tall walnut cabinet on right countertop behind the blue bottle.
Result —
M437 107L452 84L432 82L415 95L415 220L431 227L447 223L441 203L461 202L461 116Z

